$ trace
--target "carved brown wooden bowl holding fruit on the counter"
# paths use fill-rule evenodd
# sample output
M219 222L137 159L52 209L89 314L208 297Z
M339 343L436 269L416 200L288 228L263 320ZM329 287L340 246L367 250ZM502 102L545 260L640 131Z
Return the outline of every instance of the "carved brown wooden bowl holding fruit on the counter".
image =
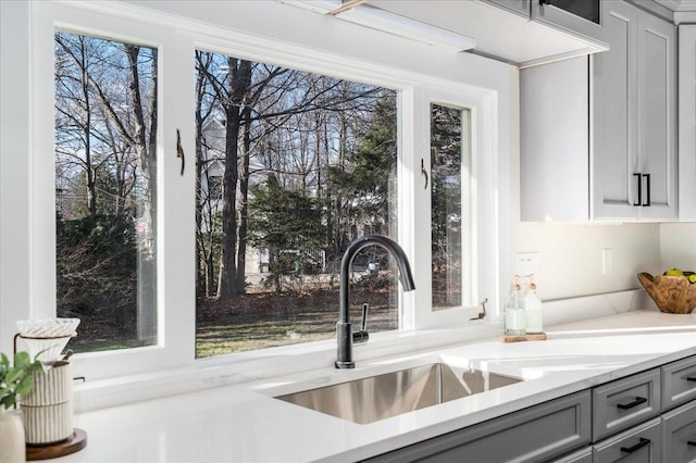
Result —
M685 276L656 275L641 272L638 280L661 312L692 313L696 308L696 283L688 281L686 276L693 272L684 272Z

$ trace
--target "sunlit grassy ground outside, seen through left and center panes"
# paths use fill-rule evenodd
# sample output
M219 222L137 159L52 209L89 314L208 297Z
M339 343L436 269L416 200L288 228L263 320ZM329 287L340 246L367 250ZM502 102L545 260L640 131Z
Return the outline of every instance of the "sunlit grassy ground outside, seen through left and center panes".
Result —
M351 291L353 324L360 323L362 302L370 303L368 330L396 329L394 286L380 280L355 283ZM250 291L232 301L199 300L196 308L196 358L270 347L333 339L338 321L338 289L310 286L275 293ZM151 346L113 321L82 317L75 352L96 352Z

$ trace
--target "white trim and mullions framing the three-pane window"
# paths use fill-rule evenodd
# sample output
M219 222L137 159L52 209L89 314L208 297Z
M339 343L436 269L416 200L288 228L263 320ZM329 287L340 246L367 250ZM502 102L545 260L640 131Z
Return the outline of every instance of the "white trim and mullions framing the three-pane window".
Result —
M253 8L268 8L273 11L286 7L266 2L251 3L256 4ZM251 3L247 4L247 7L251 7ZM283 14L285 15L286 13L300 14L299 12L283 10ZM286 21L290 20L287 18ZM138 27L142 21L150 23L147 28ZM239 21L244 22L245 18L241 17ZM426 283L430 279L430 265L419 265L419 263L425 262L423 259L427 259L430 249L425 249L427 247L423 247L419 242L422 230L418 227L423 222L421 221L422 212L418 212L418 204L423 201L423 195L420 193L419 196L418 188L422 180L420 178L421 155L419 153L428 152L425 140L428 129L427 125L424 126L423 117L427 117L430 112L418 110L420 115L417 117L414 108L427 108L427 104L430 104L427 100L431 98L430 92L434 91L431 89L448 92L449 95L445 98L448 102L455 102L449 98L451 95L467 95L469 100L463 99L461 101L467 103L464 105L468 108L475 108L476 113L480 113L480 116L472 117L472 123L474 120L478 121L475 124L476 150L485 153L485 161L480 166L483 170L481 175L484 176L485 182L478 182L477 193L481 202L476 212L480 218L477 227L478 248L485 249L480 259L481 277L478 291L480 296L487 297L489 301L487 305L489 313L487 322L498 321L497 300L500 296L498 281L500 276L506 274L507 268L507 260L500 261L499 258L500 255L507 255L507 243L509 241L509 238L504 233L509 218L500 216L500 212L508 214L510 200L508 175L510 166L508 160L500 157L508 153L517 153L511 147L514 145L513 141L518 135L515 126L517 103L513 103L517 100L517 88L514 87L517 85L517 71L511 66L469 54L455 55L457 60L463 61L463 63L457 61L452 64L449 62L453 60L451 58L452 54L449 52L444 54L439 50L431 49L427 50L427 57L424 58L424 61L430 60L432 57L431 71L442 75L442 77L433 77L423 74L413 66L410 70L395 70L389 65L361 60L353 55L291 45L283 39L252 36L213 24L210 24L204 32L201 32L202 27L199 22L154 11L148 11L148 14L144 15L144 10L140 8L121 2L65 2L64 4L63 2L48 1L32 2L30 23L32 45L27 50L32 57L28 70L30 78L28 88L32 95L29 123L30 183L26 191L27 198L22 200L26 199L26 203L29 205L29 211L26 212L27 215L24 216L24 220L29 222L30 236L28 238L28 247L32 274L28 283L28 306L8 311L3 304L3 323L8 318L16 321L22 317L54 316L52 53L53 27L55 25L84 33L91 32L97 35L119 30L121 34L109 36L161 47L161 75L177 76L174 83L172 80L167 83L162 79L163 87L174 85L178 88L185 88L185 86L192 83L192 60L178 60L182 62L177 62L176 59L167 58L167 50L176 48L181 53L192 57L194 48L213 47L240 58L271 61L295 68L304 68L399 90L399 104L402 108L402 120L399 128L402 152L401 163L399 164L400 210L398 240L414 267L417 288L430 286L430 283ZM101 25L104 27L100 27ZM237 24L236 27L243 26ZM339 25L338 27L351 30L350 27L353 26ZM176 35L173 33L174 28L177 29ZM126 36L124 36L124 30L130 30L132 35L126 33ZM361 37L368 36L368 39L370 39L373 34L377 34L378 38L383 38L382 33L360 29ZM147 40L148 35L150 40ZM313 37L316 37L316 35L313 35ZM388 43L394 41L401 43L402 47L408 47L411 49L410 54L412 55L422 55L423 51L427 49L427 46L414 45L408 40L391 37L388 37L385 41ZM294 58L289 60L288 57ZM459 79L470 84L460 84L458 83ZM433 98L437 99L437 96ZM194 152L194 139L191 136L194 134L194 123L192 117L189 116L192 114L192 101L175 104L172 101L161 100L163 99L160 98L161 127L163 129L159 130L162 141L160 143L159 162L162 163L161 167L164 174L160 176L160 184L164 184L162 188L166 188L167 195L160 196L165 203L160 210L160 213L164 214L160 217L164 234L160 242L159 255L161 261L158 262L158 268L159 278L164 279L162 280L163 285L160 286L160 290L163 292L160 295L161 298L158 302L161 306L166 305L169 312L160 314L158 320L160 334L164 336L164 341L160 346L150 348L76 355L74 360L76 375L87 376L88 379L107 378L111 387L119 389L117 384L121 380L117 378L126 375L166 370L182 371L182 368L188 371L190 368L200 368L201 365L238 364L237 371L239 372L252 370L262 371L262 374L265 375L278 374L277 364L287 362L286 359L279 359L283 354L275 359L276 362L272 361L268 365L263 362L256 362L253 367L248 364L250 359L254 359L256 355L253 353L225 355L209 361L194 360L195 330L194 322L191 322L195 320L194 285L188 281L190 272L181 271L182 268L192 268L194 252L192 250L190 252L187 252L186 249L183 250L177 246L177 241L169 239L167 229L181 230L187 227L181 227L182 224L176 222L175 216L169 216L164 213L170 203L176 204L179 211L192 211L194 208L194 196L187 195L187 191L192 191L194 188L192 170L189 170L189 175L178 178L178 164L175 158L167 157L167 153L174 152L175 138L173 134L176 127L182 128L186 151ZM427 121L427 124L430 124L430 121ZM49 155L51 161L47 159ZM480 154L476 155L480 157ZM172 184L178 185L170 189ZM173 193L174 191L176 193ZM409 207L403 204L409 204ZM186 214L178 215L185 216ZM17 212L13 217L22 220L23 214ZM192 246L192 227L190 228L191 239L189 242ZM430 229L425 236L430 236ZM173 268L179 268L179 273L174 274ZM181 284L181 281L186 281L187 284ZM409 330L422 330L443 325L452 326L452 324L465 326L469 324L468 313L473 313L473 311L467 312L462 309L460 311L446 310L434 314L428 309L431 305L430 291L405 293L401 296L401 300L403 301L401 317L403 331L385 334L384 336L384 339L388 340L387 345L393 346L390 348L393 350L398 350L398 346L401 345L409 345L409 347L405 346L407 350L412 349ZM176 313L176 315L172 316L172 313ZM7 330L2 333L5 336ZM403 340L405 337L408 340ZM375 337L374 343L378 341L378 337ZM5 349L8 340L3 337L3 349ZM374 343L371 339L371 346ZM315 360L308 360L304 363L300 361L294 367L304 370L312 362L324 364L326 356L331 356L334 352L333 345L335 342L316 343L318 355ZM297 351L298 349L295 348L290 351L293 350ZM331 353L327 354L327 352ZM374 352L384 353L384 350L378 350L375 347ZM370 353L365 356L368 355ZM357 354L357 358L360 356L362 355Z

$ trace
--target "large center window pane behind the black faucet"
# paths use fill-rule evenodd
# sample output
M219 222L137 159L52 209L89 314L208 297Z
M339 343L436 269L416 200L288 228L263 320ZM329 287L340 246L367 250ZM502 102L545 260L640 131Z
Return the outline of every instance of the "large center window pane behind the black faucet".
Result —
M395 236L396 92L200 50L195 66L197 355L334 337L344 250ZM387 258L352 268L371 331L398 328Z

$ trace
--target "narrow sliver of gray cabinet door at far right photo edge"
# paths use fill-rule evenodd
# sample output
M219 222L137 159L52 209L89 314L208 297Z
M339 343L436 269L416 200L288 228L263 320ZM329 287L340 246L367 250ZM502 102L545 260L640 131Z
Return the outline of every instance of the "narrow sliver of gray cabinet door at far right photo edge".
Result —
M696 25L679 26L679 218L696 221Z

